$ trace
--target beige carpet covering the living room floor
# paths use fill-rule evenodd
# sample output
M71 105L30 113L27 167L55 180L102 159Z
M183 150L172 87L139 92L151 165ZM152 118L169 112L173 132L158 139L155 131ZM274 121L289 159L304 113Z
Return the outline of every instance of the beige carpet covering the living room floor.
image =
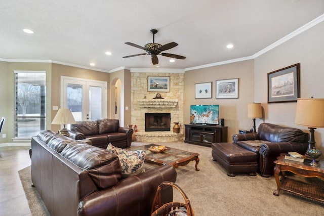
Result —
M132 146L149 143L133 142ZM156 143L157 144L157 143ZM279 196L273 177L250 177L238 175L228 177L226 171L212 160L211 148L183 142L163 143L200 154L198 168L195 162L177 168L177 184L184 190L194 209L195 216L209 215L323 215L324 205L287 193ZM49 215L44 203L39 200L35 188L30 187L30 167L19 171L32 215ZM174 201L183 202L175 191ZM108 214L107 214L108 215Z

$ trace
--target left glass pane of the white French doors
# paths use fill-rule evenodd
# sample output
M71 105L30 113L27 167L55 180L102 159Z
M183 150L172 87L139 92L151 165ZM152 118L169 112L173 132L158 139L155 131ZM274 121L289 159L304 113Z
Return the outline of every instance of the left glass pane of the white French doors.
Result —
M67 84L67 108L71 110L75 121L82 120L82 85Z

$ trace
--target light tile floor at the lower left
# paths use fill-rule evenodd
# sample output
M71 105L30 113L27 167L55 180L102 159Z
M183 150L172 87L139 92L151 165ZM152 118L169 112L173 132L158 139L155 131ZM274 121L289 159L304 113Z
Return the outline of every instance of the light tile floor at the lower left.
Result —
M0 215L31 216L18 170L30 165L28 146L0 147Z

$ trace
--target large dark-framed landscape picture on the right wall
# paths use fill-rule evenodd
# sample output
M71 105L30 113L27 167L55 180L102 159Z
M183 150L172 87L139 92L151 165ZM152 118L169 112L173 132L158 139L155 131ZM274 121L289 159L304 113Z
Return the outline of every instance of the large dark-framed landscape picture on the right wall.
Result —
M300 97L300 64L268 73L268 103L296 102Z

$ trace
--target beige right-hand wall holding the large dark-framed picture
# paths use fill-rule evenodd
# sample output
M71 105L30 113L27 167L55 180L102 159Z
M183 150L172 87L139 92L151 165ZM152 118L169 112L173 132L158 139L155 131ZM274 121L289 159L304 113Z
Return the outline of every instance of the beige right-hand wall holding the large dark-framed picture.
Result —
M324 22L288 40L255 59L255 99L265 110L265 121L292 126L309 132L307 127L295 124L296 102L267 104L267 73L300 63L301 98L324 98ZM324 150L324 129L315 129L316 147Z

